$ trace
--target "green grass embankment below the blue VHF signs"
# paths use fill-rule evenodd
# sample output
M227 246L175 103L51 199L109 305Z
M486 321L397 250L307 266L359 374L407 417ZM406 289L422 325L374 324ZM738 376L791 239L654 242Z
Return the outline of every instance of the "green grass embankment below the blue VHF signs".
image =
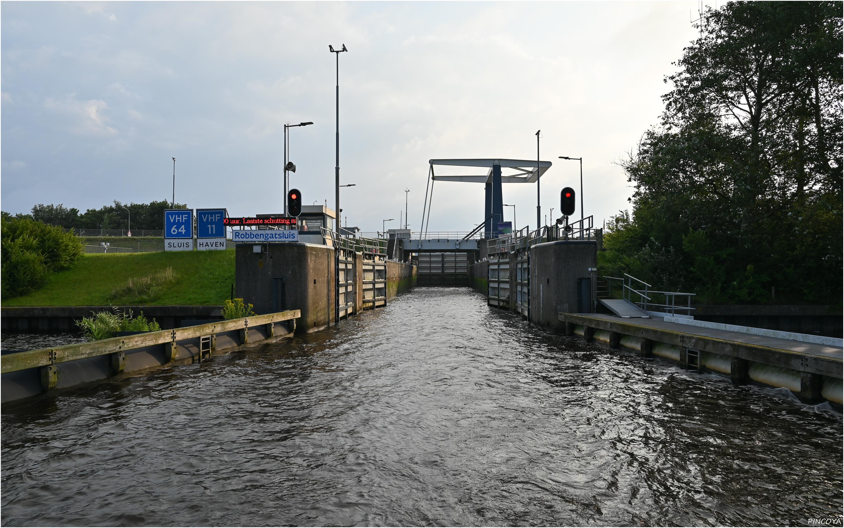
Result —
M40 290L3 298L3 306L219 305L234 282L234 249L84 254Z

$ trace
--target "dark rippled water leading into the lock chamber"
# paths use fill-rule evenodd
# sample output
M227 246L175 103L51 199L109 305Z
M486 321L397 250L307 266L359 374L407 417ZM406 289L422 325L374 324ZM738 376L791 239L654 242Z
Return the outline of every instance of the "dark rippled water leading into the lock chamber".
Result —
M841 415L418 288L338 331L3 409L5 525L788 525Z

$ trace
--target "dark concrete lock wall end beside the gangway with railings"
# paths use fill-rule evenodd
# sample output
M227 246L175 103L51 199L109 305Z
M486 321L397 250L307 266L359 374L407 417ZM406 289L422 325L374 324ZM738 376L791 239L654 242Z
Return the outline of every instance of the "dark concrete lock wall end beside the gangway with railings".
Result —
M591 279L598 267L598 242L557 241L530 248L531 322L564 331L557 313L577 313L577 279ZM590 311L592 311L590 309Z

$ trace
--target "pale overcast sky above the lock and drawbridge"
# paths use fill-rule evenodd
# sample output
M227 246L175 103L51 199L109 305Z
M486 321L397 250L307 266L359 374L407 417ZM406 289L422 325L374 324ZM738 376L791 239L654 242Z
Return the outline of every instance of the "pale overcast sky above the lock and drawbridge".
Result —
M543 215L579 187L600 224L628 206L617 162L657 124L663 83L696 33L697 3L3 2L3 210L79 210L118 199L282 210L291 186L334 202L334 54L349 226L398 227L409 188L419 229L428 160L536 159ZM536 226L536 185L504 186ZM579 201L579 200L578 200ZM484 187L437 182L430 229L483 220ZM579 211L576 216L579 216ZM512 208L505 208L512 220ZM345 221L345 220L344 220Z

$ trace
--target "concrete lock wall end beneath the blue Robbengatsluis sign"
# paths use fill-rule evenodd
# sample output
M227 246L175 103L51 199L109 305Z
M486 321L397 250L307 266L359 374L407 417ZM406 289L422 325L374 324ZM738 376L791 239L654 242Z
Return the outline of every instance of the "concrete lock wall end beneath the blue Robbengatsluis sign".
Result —
M255 253L256 246L261 253ZM284 306L277 310L273 279L284 279ZM251 302L255 313L300 310L297 331L326 328L334 323L334 248L305 242L237 244L235 297Z

